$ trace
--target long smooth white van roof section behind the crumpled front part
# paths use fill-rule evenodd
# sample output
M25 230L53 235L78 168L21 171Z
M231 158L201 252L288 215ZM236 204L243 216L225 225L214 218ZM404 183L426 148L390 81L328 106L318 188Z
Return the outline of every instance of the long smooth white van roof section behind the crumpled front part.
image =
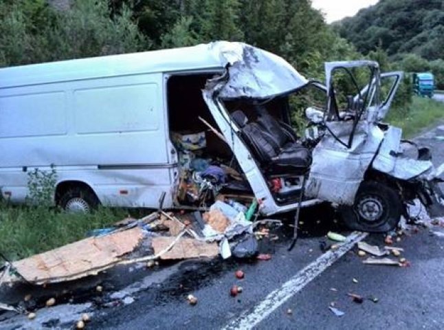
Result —
M223 68L211 45L82 58L0 69L0 88L78 79Z

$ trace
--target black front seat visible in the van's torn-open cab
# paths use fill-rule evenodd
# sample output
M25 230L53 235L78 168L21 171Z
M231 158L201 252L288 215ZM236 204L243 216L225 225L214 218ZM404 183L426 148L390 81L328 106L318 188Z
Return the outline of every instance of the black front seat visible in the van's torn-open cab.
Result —
M270 175L300 174L311 165L310 151L304 146L297 142L287 142L281 146L276 137L260 124L248 122L247 116L240 110L234 111L232 118L261 167Z

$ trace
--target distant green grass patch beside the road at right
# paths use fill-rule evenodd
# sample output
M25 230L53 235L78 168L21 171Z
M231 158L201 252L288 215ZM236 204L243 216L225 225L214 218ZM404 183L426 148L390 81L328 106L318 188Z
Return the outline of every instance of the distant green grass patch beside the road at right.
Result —
M444 118L444 102L414 96L406 108L393 108L386 122L403 129L403 137L412 137Z

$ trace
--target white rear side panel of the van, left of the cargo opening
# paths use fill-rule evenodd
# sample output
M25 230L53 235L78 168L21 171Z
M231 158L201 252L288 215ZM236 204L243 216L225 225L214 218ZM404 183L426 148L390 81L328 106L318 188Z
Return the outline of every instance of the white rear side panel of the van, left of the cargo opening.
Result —
M83 181L104 204L172 203L162 74L0 89L0 188L27 193L26 170L56 166L58 181Z

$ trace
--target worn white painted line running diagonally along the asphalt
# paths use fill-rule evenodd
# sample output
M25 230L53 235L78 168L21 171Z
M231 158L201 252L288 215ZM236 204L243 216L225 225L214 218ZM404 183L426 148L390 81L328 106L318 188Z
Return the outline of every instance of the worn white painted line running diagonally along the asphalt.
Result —
M364 232L353 232L347 236L346 241L340 248L335 251L329 251L313 263L307 265L303 270L300 270L295 276L289 279L282 287L274 290L265 299L256 305L254 309L244 311L241 316L232 320L223 329L252 329L255 325L267 316L269 316L275 309L285 303L291 296L299 292L305 285L309 284L316 276L320 275L324 270L333 265L335 261L346 254L355 243L362 241L368 234ZM296 248L298 246L296 245Z

